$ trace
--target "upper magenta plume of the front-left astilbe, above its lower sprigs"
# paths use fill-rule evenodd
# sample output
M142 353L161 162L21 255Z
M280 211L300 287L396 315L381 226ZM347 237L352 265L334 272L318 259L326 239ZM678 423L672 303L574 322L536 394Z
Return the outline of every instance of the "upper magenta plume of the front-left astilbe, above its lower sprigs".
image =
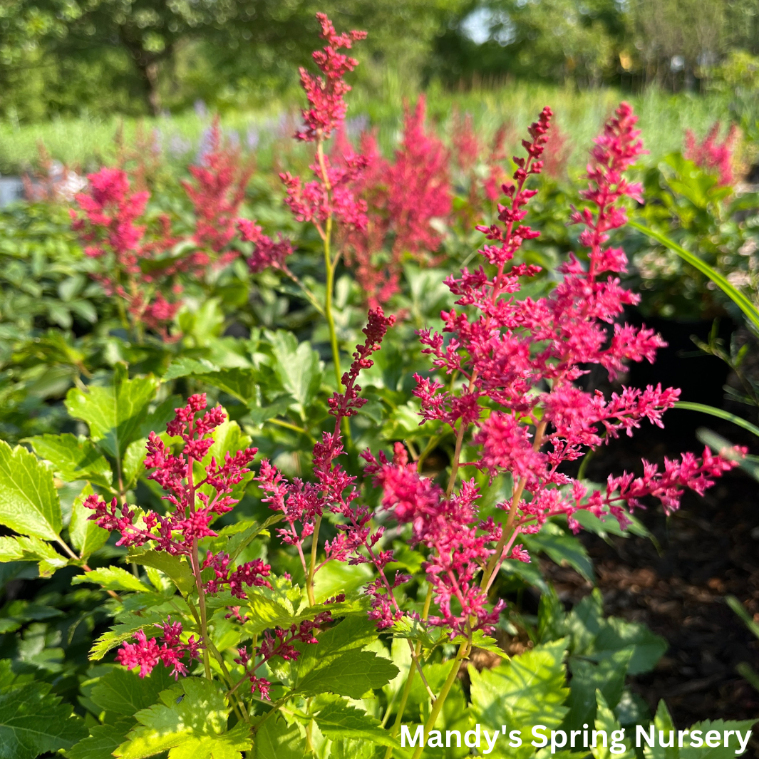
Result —
M150 433L145 466L153 469L148 478L168 493L163 497L174 509L168 515L137 512L126 503L118 505L117 499L106 504L99 496L87 496L84 505L94 512L90 519L106 530L120 533L118 546L154 543L156 550L174 556L190 556L197 540L216 537L209 524L237 503L230 493L250 471L247 466L257 449L247 448L234 455L226 452L224 461L216 461L212 456L203 465L205 477L197 479L194 464L206 458L213 446L212 431L226 418L221 407L197 417L205 408L206 394L192 395L184 408L176 409L175 418L166 425L168 434L183 442L177 455L156 433Z

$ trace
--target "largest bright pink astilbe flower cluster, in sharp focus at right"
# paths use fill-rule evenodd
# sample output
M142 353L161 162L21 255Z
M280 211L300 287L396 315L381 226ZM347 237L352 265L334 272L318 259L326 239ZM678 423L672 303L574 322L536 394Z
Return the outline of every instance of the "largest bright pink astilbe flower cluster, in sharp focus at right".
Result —
M523 241L537 237L523 223L524 206L535 194L525 183L543 168L551 116L550 109L543 109L530 128L531 140L522 143L527 157L515 158L515 184L502 187L509 203L498 206L502 225L480 228L489 240L480 252L495 273L480 266L474 272L462 269L461 276L446 281L458 298L456 305L479 315L471 320L466 310L443 312L447 340L429 329L420 332L435 367L463 380L460 388L445 389L435 379L417 375L422 417L448 425L456 435L448 491L421 477L402 452L392 462L366 456L370 473L383 487L383 506L398 521L411 523L414 542L430 549L427 577L441 613L430 621L454 632L488 628L497 619L499 609L487 606L487 588L502 559L528 559L515 545L518 534L540 530L555 515L565 515L576 531L578 509L597 516L610 513L625 524L625 507L638 506L647 496L659 498L668 511L676 509L683 488L701 493L713 477L735 465L709 452L703 460L686 454L682 461L666 461L663 472L646 463L643 477L609 477L606 491L590 496L562 469L620 431L631 434L644 419L661 426L663 411L672 408L679 391L625 388L606 399L575 384L589 364L599 364L613 378L625 361L653 361L663 345L650 329L618 322L625 305L638 297L622 288L616 276L625 270L624 252L606 247L609 232L626 222L620 201L639 200L641 192L623 175L643 150L637 119L626 103L591 151L590 184L582 194L591 207L572 215L572 222L586 227L580 241L588 249L587 264L572 256L560 269L562 282L545 298L513 296L520 278L538 271L524 264L506 266ZM491 478L502 473L512 478L512 497L499 504L505 512L501 525L477 517L474 480L464 480L458 492L454 488L469 427L474 427L472 442L480 455L468 465L486 470ZM483 581L476 584L483 567Z

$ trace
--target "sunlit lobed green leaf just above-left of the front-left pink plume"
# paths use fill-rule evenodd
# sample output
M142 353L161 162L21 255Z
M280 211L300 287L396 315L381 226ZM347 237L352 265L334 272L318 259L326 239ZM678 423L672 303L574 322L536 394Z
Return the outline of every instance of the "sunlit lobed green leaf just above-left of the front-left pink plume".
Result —
M129 379L126 365L116 364L112 385L91 385L87 392L72 388L66 408L75 419L86 421L90 437L121 461L129 443L143 436L140 430L158 386L153 376Z

